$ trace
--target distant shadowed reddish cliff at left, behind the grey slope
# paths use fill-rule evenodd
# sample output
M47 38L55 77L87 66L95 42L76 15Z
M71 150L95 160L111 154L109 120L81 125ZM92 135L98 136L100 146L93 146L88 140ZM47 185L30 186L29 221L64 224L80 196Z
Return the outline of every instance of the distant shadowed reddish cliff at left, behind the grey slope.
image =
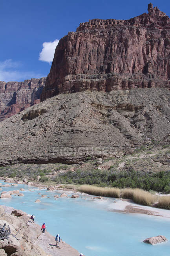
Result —
M0 121L40 102L46 78L0 82Z

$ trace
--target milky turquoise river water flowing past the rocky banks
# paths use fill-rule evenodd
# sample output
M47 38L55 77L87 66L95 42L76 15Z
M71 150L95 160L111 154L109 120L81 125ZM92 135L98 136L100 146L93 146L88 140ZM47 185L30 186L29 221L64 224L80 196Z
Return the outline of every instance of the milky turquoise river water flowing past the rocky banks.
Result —
M20 188L25 189L20 191L24 197L12 195L0 199L0 204L35 215L36 223L46 223L49 233L60 234L63 241L86 256L170 256L170 218L110 211L110 205L115 204L113 198L93 200L80 194L79 198L55 200L53 196L60 196L62 191L23 184L2 187L2 191ZM38 193L47 197L41 198ZM68 197L72 194L68 192ZM41 202L35 203L36 199ZM145 238L158 235L168 242L154 246L143 243Z

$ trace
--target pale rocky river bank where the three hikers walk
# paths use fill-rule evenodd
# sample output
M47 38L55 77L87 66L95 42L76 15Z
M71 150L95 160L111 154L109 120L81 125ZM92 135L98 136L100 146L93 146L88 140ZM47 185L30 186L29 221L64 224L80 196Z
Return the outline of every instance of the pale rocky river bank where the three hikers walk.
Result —
M79 252L61 240L57 248L55 237L47 231L42 233L37 223L31 223L30 215L0 205L0 226L9 225L9 239L0 240L0 255L11 256L79 256ZM15 216L20 215L20 216Z

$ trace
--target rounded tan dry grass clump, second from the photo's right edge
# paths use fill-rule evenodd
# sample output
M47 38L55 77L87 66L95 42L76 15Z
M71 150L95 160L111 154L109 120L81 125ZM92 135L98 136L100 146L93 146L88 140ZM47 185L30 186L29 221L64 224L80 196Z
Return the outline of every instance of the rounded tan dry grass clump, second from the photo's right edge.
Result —
M154 196L142 189L133 189L132 200L137 204L152 206L157 201L157 196Z

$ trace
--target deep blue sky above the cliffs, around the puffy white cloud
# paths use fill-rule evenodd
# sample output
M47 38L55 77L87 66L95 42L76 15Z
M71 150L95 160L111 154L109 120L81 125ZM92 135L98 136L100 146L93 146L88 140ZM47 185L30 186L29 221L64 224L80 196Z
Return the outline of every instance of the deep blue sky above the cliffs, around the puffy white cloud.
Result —
M57 39L69 31L75 32L88 19L130 19L147 13L148 3L147 0L0 0L0 80L23 81L47 76ZM169 0L152 3L170 17Z

